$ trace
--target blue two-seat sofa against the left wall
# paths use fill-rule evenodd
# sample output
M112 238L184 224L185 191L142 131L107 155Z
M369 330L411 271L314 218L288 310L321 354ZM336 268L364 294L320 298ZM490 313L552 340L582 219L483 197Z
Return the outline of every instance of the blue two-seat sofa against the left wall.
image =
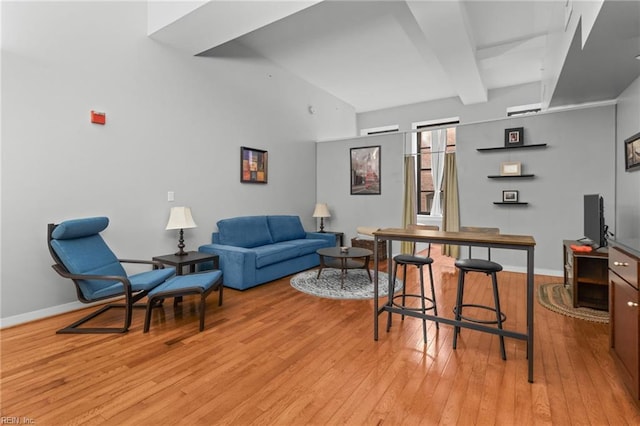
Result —
M218 221L202 253L220 256L225 287L245 290L320 264L316 250L333 234L305 232L298 216L241 216Z

